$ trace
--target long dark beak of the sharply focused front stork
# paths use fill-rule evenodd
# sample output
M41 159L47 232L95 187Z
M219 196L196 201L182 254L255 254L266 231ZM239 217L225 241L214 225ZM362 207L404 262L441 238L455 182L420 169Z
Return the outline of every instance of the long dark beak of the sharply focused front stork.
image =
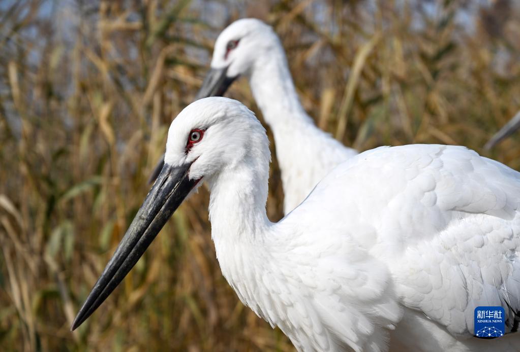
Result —
M71 330L79 327L107 299L137 263L155 236L199 180L188 177L191 163L164 164L123 239L77 313Z

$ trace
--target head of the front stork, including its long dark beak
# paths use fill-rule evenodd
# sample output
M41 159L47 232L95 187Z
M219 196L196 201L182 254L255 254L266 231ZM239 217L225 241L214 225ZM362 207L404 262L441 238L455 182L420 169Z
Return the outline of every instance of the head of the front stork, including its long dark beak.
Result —
M164 166L125 236L77 314L79 327L107 299L201 180L268 154L265 129L236 100L207 98L188 105L168 131ZM268 156L267 156L268 157Z

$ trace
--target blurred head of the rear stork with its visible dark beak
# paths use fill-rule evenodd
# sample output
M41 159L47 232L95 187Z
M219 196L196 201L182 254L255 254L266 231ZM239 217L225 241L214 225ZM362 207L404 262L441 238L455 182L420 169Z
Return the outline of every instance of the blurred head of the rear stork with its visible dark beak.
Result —
M222 96L240 75L249 76L258 58L280 46L271 26L254 18L231 23L217 38L211 60L197 99Z

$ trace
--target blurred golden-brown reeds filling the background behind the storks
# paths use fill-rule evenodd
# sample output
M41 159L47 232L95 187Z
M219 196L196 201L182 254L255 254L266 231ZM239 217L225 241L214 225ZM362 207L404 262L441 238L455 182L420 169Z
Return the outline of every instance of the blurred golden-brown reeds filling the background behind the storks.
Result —
M305 109L346 145L462 144L520 168L518 135L482 150L520 109L514 1L3 0L2 350L293 349L222 277L205 190L69 331L217 34L245 16L274 25ZM228 96L256 109L245 79ZM274 161L267 208L276 221Z

